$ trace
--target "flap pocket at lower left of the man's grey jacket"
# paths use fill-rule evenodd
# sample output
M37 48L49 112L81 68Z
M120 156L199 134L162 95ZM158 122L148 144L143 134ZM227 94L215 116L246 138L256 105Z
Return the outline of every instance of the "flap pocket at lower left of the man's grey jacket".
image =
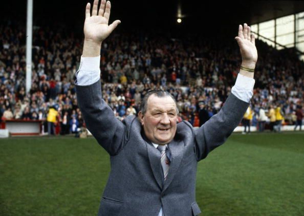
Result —
M112 198L103 197L101 199L98 215L118 216L120 211L121 211L122 205L123 205L123 202L120 201L120 200L115 200L115 199L112 199Z

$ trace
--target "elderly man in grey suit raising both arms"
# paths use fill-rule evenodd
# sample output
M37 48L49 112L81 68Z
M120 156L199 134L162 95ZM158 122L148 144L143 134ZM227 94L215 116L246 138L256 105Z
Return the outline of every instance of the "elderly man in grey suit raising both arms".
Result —
M86 125L110 154L111 173L98 215L198 215L196 172L198 161L223 144L241 121L252 96L257 60L254 36L247 24L235 37L242 66L221 111L199 128L177 124L175 99L164 91L149 91L138 118L117 120L101 97L100 48L120 23L108 25L110 2L95 0L92 14L86 5L84 46L76 74L77 99Z

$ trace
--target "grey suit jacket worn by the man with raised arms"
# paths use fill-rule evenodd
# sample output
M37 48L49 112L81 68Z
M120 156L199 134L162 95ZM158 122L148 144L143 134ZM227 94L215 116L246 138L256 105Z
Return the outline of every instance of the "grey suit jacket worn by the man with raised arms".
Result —
M119 121L101 98L100 81L76 86L84 121L98 143L111 156L111 172L98 215L166 216L198 215L196 173L198 161L223 144L240 123L249 103L230 94L221 111L200 128L188 122L177 124L168 144L171 163L162 183L160 152L145 138L139 120L129 116Z

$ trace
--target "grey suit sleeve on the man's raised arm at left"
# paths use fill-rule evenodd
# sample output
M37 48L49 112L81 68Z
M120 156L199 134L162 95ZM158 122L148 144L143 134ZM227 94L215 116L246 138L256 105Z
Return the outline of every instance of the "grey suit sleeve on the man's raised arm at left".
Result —
M125 125L102 99L100 80L91 85L76 85L76 95L86 127L110 155L117 155L123 147Z

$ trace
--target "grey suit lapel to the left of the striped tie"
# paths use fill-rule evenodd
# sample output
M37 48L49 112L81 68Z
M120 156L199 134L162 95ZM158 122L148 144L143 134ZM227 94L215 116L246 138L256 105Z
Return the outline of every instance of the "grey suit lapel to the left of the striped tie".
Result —
M147 151L148 151L148 157L150 161L150 166L153 171L153 175L159 185L160 188L163 188L163 174L162 174L162 166L160 162L161 154L159 150L154 147L152 144L149 144L146 141Z

